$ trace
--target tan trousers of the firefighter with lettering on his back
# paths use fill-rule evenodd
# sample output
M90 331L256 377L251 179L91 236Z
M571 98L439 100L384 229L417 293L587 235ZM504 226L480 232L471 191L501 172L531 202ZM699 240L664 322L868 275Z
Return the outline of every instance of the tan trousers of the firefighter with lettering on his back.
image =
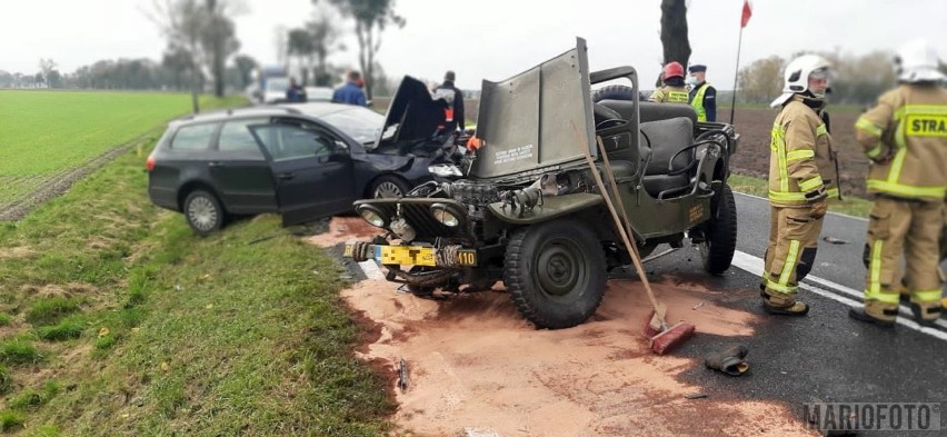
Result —
M925 315L928 308L940 308L938 240L944 227L944 202L939 201L875 197L868 219L865 312L885 320L894 320L897 316L901 256L906 261L904 282L911 304L919 306ZM930 316L936 318L937 314Z

